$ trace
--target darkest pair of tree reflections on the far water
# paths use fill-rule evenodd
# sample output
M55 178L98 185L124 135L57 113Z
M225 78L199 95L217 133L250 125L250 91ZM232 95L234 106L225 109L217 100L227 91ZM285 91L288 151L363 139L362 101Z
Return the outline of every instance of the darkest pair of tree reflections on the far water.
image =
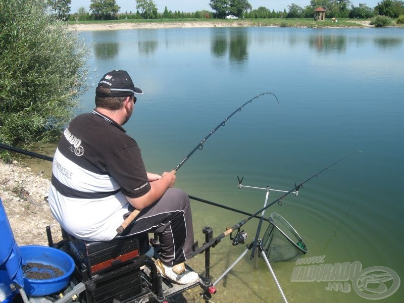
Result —
M230 34L222 30L214 31L211 39L211 52L215 57L224 58L228 53L230 61L243 62L248 58L248 34L244 28L231 30Z

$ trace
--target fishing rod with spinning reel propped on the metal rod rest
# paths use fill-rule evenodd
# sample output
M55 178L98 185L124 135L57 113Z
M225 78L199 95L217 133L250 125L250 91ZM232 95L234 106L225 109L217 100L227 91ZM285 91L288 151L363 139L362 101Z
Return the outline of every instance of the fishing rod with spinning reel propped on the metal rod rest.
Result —
M245 223L247 223L249 220L251 220L252 218L254 218L255 216L257 216L259 213L264 212L266 209L268 209L270 206L274 205L275 203L281 203L281 200L287 196L288 194L295 192L295 194L297 195L299 192L299 189L306 184L307 182L309 182L311 179L313 179L314 177L317 177L318 175L320 175L322 172L328 170L330 167L336 165L337 163L341 162L342 160L358 154L358 153L362 153L361 150L356 151L355 153L351 153L349 155L346 155L344 157L342 157L341 159L335 161L334 163L330 164L329 166L327 166L326 168L322 169L321 171L319 171L318 173L314 174L313 176L311 176L309 179L307 179L306 181L301 182L299 185L296 185L296 183L294 184L294 187L292 189L290 189L289 191L285 192L283 195L281 195L279 198L277 198L276 200L274 200L272 203L270 203L269 205L265 206L264 208L262 208L261 210L259 210L258 212L256 212L255 214L250 215L248 218L240 221L239 223L237 223L236 225L234 225L231 228L226 228L226 231L221 233L220 235L218 235L216 238L213 238L212 240L210 240L209 242L204 243L202 246L196 248L193 252L191 252L191 254L189 255L190 258L195 257L198 254L201 254L202 252L204 252L206 249L210 248L210 247L215 247L224 237L226 237L227 235L231 234L234 230L237 230L239 232L240 227L243 226ZM235 238L237 237L237 235L235 236Z

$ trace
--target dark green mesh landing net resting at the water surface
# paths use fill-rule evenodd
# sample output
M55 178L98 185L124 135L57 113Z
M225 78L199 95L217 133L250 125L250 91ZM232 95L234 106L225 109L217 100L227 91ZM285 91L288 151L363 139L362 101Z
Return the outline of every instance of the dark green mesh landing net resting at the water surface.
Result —
M262 248L269 262L297 259L309 250L297 231L281 215L272 213L262 238Z

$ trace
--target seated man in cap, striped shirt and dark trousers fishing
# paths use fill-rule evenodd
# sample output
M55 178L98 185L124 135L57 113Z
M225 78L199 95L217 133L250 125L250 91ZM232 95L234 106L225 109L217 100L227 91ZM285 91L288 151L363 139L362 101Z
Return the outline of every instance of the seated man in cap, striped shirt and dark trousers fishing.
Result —
M132 115L135 95L141 94L126 71L100 79L95 109L73 119L59 142L49 206L62 228L83 240L156 232L159 272L179 284L196 282L198 275L183 264L193 244L189 198L173 188L173 172L146 172L136 141L122 128ZM135 209L139 215L117 235L117 227Z

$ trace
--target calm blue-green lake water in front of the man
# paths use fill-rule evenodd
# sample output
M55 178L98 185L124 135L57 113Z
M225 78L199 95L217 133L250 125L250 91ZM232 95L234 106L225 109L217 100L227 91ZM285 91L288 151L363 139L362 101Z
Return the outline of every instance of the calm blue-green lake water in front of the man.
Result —
M402 285L392 292L404 278L404 29L181 28L80 36L93 53L90 81L125 69L144 90L125 128L151 172L174 169L249 99L276 94L279 103L263 95L247 104L178 170L176 186L189 195L255 213L265 190L238 189L237 176L243 185L290 190L355 153L265 216L277 212L291 223L309 247L305 257L325 256L321 264L334 271L360 263L362 278L341 281L337 271L331 282L301 281L304 274L291 281L305 265L281 262L273 269L289 302L365 302L378 294L383 302L402 301ZM82 112L94 107L93 95L94 86ZM279 195L271 192L269 201ZM217 236L247 217L198 201L192 212L199 244L203 227ZM243 226L247 243L257 226L257 219ZM212 280L244 250L228 237L212 248ZM249 255L216 285L214 302L282 301L263 259L255 269ZM204 255L188 263L203 273ZM198 296L198 288L191 291Z

